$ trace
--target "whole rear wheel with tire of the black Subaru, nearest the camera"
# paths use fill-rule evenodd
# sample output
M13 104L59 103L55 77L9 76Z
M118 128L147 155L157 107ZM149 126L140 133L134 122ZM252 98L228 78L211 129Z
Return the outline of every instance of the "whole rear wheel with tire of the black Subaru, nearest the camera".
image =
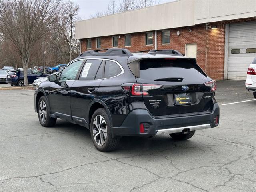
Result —
M115 150L119 144L120 138L112 136L112 122L104 108L97 109L92 115L90 132L94 146L101 152Z

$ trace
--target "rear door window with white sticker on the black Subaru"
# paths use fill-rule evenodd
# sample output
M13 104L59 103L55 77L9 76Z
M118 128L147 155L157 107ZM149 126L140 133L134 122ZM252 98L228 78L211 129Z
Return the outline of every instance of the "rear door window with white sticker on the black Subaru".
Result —
M93 80L102 65L103 60L87 60L84 64L79 80ZM102 69L103 70L103 69ZM102 78L102 77L101 77Z

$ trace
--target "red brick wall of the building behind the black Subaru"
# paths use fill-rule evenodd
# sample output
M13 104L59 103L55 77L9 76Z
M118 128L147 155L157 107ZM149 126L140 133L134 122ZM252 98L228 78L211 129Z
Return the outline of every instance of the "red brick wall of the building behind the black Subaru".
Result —
M197 62L200 67L213 79L224 79L224 55L225 55L225 24L255 21L256 18L245 18L214 22L217 29L205 29L205 24L183 28L170 29L170 44L162 45L162 30L157 31L157 49L174 49L185 54L186 44L197 45ZM192 31L189 32L188 30ZM180 35L177 36L177 30ZM153 31L153 45L146 46L145 32L131 34L131 46L124 46L124 34L118 35L118 47L127 48L131 52L154 49L155 33ZM82 52L86 51L86 39L82 39ZM101 37L101 49L112 48L112 36ZM92 38L92 50L96 50L96 38Z

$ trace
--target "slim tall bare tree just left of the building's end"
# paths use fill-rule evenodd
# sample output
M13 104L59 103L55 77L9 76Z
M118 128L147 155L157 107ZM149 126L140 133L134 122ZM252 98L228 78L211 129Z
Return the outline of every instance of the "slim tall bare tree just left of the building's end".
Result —
M74 2L68 1L64 5L64 13L66 15L69 28L70 28L70 36L69 36L69 52L70 52L70 61L72 60L72 38L73 38L73 30L75 27L75 21L78 20L78 10L79 6L75 5Z

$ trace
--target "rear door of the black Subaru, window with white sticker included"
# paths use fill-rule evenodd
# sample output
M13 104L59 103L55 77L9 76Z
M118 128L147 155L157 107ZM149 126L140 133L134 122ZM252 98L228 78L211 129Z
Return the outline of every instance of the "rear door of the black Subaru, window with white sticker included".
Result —
M105 59L86 60L78 80L71 88L70 104L72 118L78 124L89 123L88 106L94 99L98 87L104 78Z

